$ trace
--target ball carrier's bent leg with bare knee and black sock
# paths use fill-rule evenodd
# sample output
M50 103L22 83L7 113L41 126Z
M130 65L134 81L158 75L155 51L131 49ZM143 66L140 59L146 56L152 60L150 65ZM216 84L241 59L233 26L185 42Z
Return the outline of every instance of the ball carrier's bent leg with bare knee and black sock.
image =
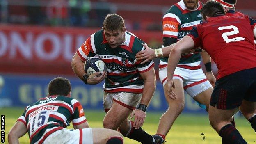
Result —
M130 130L131 127L128 117L131 112L132 110L113 101L112 107L104 117L104 128L110 128L112 130L117 130L119 128L120 132L130 139L134 139L142 144L152 144L153 137L142 130L141 127L139 129L134 129L132 127L133 130Z

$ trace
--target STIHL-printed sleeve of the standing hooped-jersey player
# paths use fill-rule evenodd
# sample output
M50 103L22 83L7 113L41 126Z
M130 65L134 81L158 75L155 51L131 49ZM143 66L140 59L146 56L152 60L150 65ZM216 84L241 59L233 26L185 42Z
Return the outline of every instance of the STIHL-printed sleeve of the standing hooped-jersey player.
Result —
M178 11L178 8L174 5L163 16L163 37L178 37L179 26L181 25Z

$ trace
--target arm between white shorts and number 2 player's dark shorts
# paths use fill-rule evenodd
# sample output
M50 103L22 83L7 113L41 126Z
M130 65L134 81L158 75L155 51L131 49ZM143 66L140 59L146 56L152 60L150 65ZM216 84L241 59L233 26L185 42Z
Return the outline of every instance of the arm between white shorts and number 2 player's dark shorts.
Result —
M212 72L211 57L204 50L201 52L201 55L202 55L204 66L206 68L206 73L205 73L206 74L206 78L209 80L211 85L214 87L215 82L216 82L216 78L215 78L215 76L213 75L213 72Z

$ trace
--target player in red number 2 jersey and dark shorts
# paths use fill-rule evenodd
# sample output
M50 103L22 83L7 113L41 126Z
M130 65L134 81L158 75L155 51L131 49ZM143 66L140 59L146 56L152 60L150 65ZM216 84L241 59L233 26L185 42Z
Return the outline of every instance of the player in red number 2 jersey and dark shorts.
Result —
M171 88L176 85L173 77L181 53L200 46L219 68L209 107L210 124L228 144L247 144L229 120L239 107L256 132L256 21L248 16L225 16L220 3L214 1L208 1L201 14L205 21L171 50L167 93L174 95Z

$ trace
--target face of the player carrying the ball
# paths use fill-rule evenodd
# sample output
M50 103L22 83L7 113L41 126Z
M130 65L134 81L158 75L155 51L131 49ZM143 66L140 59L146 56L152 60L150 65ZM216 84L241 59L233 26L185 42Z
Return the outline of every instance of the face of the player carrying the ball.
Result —
M125 41L125 30L126 29L124 29L124 31L120 30L116 32L104 30L105 38L111 48L117 48L118 45L122 44Z

